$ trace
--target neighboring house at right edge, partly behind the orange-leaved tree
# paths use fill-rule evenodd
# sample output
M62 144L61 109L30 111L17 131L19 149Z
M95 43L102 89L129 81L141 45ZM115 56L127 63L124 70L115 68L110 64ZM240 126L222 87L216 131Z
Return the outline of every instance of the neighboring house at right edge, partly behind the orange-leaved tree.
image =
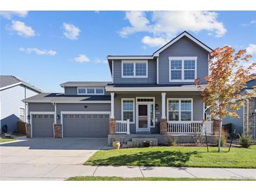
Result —
M256 76L256 74L252 74ZM252 92L252 87L256 85L256 80L251 80L247 82L247 88L243 90L243 92ZM245 100L244 107L241 107L236 111L236 114L240 116L240 118L227 117L224 118L223 123L231 123L232 130L236 129L236 133L243 135L249 134L256 139L256 129L255 129L255 115L256 115L256 102L255 96L253 96L250 100Z

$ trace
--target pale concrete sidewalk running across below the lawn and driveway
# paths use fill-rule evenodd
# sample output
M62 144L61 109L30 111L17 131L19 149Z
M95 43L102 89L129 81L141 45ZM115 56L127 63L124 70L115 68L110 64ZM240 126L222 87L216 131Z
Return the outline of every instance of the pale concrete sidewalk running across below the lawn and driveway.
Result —
M23 167L25 166L25 167ZM30 166L30 167L29 167ZM22 165L19 172L6 172L1 180L64 180L74 176L116 177L190 177L215 179L256 179L256 169L197 168L197 167L133 167L49 165L54 167ZM31 174L28 175L29 171Z

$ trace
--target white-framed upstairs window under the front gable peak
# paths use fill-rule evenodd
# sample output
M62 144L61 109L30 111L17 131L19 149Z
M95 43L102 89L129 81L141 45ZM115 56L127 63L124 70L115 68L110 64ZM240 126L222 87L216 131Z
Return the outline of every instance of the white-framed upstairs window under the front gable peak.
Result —
M197 57L169 57L169 81L193 82Z

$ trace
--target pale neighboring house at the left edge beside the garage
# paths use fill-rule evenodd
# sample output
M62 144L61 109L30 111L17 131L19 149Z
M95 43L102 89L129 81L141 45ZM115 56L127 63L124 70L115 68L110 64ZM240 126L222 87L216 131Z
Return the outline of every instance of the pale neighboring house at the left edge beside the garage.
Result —
M18 121L26 121L27 105L22 100L41 93L42 90L15 76L0 76L1 127L8 126L8 132L17 132ZM1 132L1 131L0 131Z

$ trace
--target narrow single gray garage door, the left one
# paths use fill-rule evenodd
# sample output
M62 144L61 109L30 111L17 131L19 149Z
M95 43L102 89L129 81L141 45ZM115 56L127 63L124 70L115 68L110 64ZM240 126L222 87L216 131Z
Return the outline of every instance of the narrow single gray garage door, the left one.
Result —
M53 115L32 115L33 137L53 137L53 123Z

